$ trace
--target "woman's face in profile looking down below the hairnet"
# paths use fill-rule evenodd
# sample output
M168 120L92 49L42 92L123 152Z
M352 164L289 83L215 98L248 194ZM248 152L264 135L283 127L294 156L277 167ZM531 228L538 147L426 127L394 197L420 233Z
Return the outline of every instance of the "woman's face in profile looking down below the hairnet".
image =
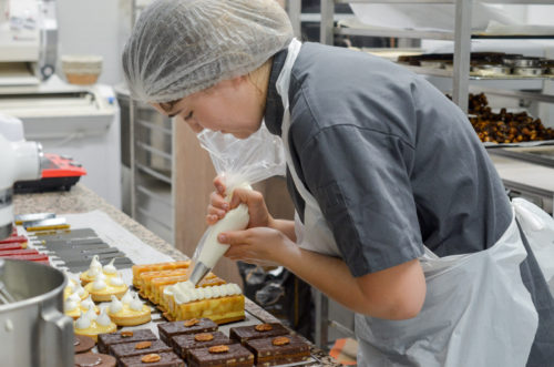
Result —
M259 129L265 95L248 77L238 77L181 99L171 111L160 103L152 105L165 115L184 120L195 133L208 129L246 139Z

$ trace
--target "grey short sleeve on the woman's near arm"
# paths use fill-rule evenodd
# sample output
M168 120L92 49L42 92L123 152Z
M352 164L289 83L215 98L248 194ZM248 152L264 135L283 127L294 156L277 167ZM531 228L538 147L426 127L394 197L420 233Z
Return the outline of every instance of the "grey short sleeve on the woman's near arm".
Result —
M401 137L339 124L298 151L306 184L353 276L423 254L410 184L413 147Z

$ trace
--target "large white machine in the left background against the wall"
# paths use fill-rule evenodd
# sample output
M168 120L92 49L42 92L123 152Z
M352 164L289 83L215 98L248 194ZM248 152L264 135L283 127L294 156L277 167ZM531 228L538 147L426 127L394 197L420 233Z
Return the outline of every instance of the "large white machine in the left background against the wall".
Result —
M23 121L25 139L71 156L82 183L121 207L120 114L107 85L72 85L54 74L53 0L0 0L0 112Z

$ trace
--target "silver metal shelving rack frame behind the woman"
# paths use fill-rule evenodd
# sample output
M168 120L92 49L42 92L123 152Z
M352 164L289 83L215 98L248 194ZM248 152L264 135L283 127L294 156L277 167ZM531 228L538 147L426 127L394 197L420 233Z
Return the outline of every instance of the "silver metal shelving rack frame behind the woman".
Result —
M296 0L290 0L296 1ZM500 4L554 4L554 0L485 0L485 3L500 3ZM404 29L384 29L384 28L345 28L336 27L335 21L337 20L335 14L335 4L337 3L373 3L373 4L453 4L455 7L454 12L454 29L453 31L428 31L428 30L404 30ZM530 35L530 37L507 37L502 34L486 35L486 34L472 34L471 32L471 19L472 19L472 0L321 0L321 14L320 14L320 42L324 44L334 44L335 35L366 35L366 37L381 37L381 38L399 38L399 39L431 39L431 40L447 40L453 41L453 69L452 70L441 70L441 69L430 69L421 67L407 67L416 73L450 78L452 79L452 100L456 103L462 111L468 112L469 104L469 93L484 92L486 94L509 96L515 99L531 100L536 102L554 103L554 95L542 93L542 92L523 92L519 90L499 90L490 88L476 88L470 85L470 81L506 81L506 83L513 83L514 81L521 81L522 83L534 83L533 81L542 81L543 88L545 90L545 83L553 80L553 77L544 78L516 78L515 75L510 75L507 78L488 78L488 77L475 77L470 75L470 55L471 55L471 41L472 39L554 39L554 35ZM300 22L300 18L293 17L293 21ZM490 152L494 150L489 150ZM497 150L501 152L502 150ZM494 153L492 153L494 154ZM513 153L512 156L516 156ZM529 154L527 154L529 155ZM525 156L521 157L522 160ZM554 167L554 160L552 161ZM544 163L543 163L544 164ZM504 182L507 188L515 188L520 192L524 191L525 187L520 187L515 183ZM529 188L529 187L526 187ZM531 195L538 195L537 192L533 190L526 190ZM550 196L553 198L553 193L541 191L541 195ZM338 324L335 320L329 319L329 299L319 292L315 292L315 304L316 304L316 333L315 333L315 344L320 348L326 348L328 345L328 330L329 327L335 327L349 334L351 330L346 328L343 325Z

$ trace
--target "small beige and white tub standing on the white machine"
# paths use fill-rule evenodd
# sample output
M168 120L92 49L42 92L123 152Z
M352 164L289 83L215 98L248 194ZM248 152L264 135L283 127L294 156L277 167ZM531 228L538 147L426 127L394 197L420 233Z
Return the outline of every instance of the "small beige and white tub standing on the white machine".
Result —
M62 70L71 84L94 84L102 71L102 57L94 54L62 55Z

